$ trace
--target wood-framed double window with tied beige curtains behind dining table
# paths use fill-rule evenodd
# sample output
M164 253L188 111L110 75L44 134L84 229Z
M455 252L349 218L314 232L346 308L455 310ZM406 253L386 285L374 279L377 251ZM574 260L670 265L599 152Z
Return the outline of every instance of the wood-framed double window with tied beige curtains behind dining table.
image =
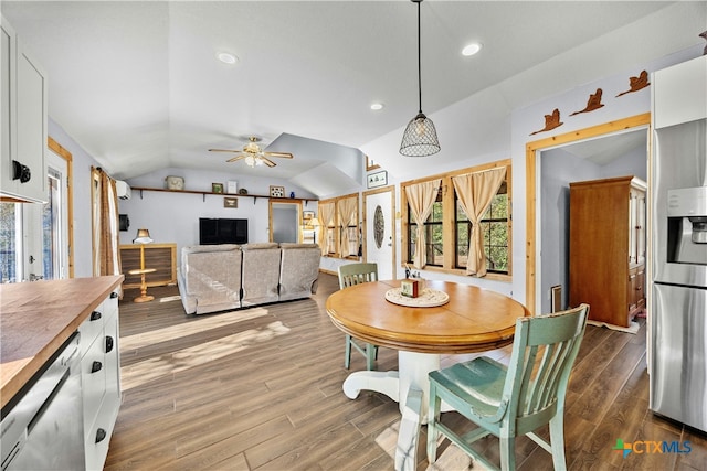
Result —
M425 220L424 269L509 280L511 275L510 159L401 183L402 249L413 265L416 223L405 188L440 180L432 211ZM481 214L477 214L479 213ZM473 214L469 217L468 213ZM477 221L478 234L474 232ZM477 240L474 245L473 239ZM469 264L469 247L474 254ZM483 253L483 255L479 254Z

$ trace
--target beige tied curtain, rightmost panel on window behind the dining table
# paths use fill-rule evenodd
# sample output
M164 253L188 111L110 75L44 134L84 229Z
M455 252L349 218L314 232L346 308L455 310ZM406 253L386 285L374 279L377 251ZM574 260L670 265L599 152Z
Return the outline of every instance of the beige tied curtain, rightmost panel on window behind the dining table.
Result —
M466 261L466 275L486 276L486 255L484 254L484 238L482 236L479 221L500 184L506 179L506 168L484 170L482 172L466 173L453 176L454 190L460 200L462 211L472 222L469 234L468 259Z

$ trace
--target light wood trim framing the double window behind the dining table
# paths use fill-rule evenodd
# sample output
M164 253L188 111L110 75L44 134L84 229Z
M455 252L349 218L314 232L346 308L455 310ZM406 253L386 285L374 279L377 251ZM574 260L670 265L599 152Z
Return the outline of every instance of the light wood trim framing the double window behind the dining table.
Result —
M503 159L494 162L484 163L481 165L468 167L460 169L449 173L441 173L436 175L429 175L422 179L410 180L400 183L400 215L401 215L401 267L404 267L408 263L408 254L410 250L409 234L409 220L410 210L408 204L408 196L405 195L405 188L422 183L431 180L442 180L442 246L444 250L443 266L426 265L423 269L428 271L437 271L451 275L467 276L465 268L456 268L456 216L455 216L455 201L454 201L454 183L453 176L463 175L465 173L481 172L484 170L505 167L506 168L506 184L507 184L507 197L508 197L508 274L488 272L483 279L510 281L513 279L513 184L511 184L511 160ZM451 191L450 191L451 190Z

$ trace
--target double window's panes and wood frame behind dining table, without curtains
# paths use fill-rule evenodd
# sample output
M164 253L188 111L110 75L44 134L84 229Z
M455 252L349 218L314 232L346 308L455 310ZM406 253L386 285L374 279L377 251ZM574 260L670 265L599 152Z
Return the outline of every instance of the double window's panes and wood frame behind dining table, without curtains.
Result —
M401 184L403 210L402 247L407 264L412 264L415 254L416 223L411 215L405 188L422 182L441 180L432 211L424 223L424 235L426 238L425 269L465 275L468 265L469 238L472 237L473 223L463 210L460 194L457 194L454 186L454 178L457 178L457 184L460 184L458 179L463 175L498 168L505 168L505 180L500 183L495 195L488 195L488 197L492 197L492 201L487 211L482 215L479 229L483 250L486 256L486 277L500 280L509 279L511 275L511 175L509 159Z

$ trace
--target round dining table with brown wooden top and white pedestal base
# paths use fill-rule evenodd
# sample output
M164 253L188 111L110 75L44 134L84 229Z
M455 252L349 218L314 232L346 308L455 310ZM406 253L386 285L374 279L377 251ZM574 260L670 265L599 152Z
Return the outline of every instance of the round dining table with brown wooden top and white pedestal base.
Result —
M425 288L445 293L446 302L432 307L401 306L386 299L386 293L399 289L400 282L373 281L341 289L329 296L326 310L341 331L398 351L397 372L354 372L342 388L351 399L367 389L399 403L403 418L395 469L414 469L420 422L426 420L428 374L440 368L440 355L509 345L516 320L529 312L518 301L494 291L432 280L424 281Z

